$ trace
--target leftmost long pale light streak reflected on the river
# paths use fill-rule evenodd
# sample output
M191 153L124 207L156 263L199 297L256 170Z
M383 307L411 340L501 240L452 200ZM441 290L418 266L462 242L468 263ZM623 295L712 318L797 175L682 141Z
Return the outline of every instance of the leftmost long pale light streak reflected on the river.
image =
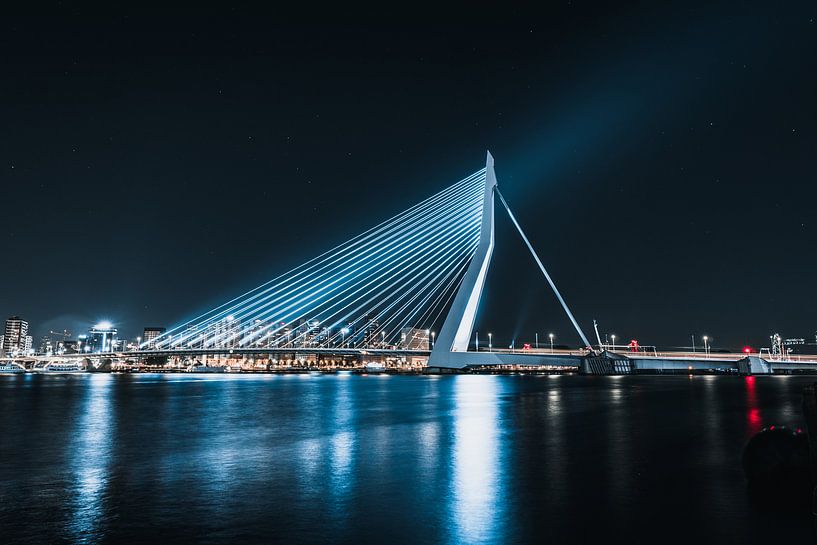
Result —
M74 497L67 529L73 543L93 543L102 535L104 505L110 479L113 377L92 374L71 377L87 381L77 435L71 445L71 478ZM59 417L59 415L55 415Z

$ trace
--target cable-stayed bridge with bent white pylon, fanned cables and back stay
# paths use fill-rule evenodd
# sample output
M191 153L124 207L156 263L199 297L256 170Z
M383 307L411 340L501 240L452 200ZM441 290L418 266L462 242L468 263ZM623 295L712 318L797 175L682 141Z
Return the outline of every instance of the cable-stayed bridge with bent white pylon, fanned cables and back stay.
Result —
M145 339L140 352L397 351L429 355L429 365L438 368L565 364L551 355L468 350L493 254L497 197L589 347L499 192L488 153L485 168L269 282Z

